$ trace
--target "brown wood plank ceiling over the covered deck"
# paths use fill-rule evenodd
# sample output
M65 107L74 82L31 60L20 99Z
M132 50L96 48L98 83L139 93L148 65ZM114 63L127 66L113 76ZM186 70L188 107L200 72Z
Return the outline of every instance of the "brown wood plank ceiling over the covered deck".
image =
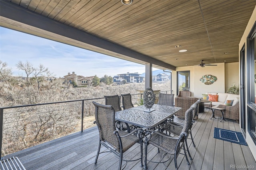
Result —
M255 0L10 2L174 67L198 65L201 59L206 64L238 62L238 43L256 5Z

